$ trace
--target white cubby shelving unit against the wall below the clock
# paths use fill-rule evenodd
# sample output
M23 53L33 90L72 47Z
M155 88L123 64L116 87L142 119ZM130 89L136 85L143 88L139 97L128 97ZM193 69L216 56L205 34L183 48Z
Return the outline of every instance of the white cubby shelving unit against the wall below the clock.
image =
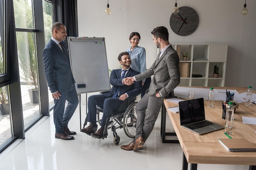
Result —
M180 54L180 63L190 63L189 77L181 77L179 86L224 87L227 62L227 44L172 44L180 52L188 52L187 61L183 61ZM207 61L193 61L196 58L206 58ZM214 65L219 67L219 78L213 78ZM193 78L192 74L202 74L202 77Z

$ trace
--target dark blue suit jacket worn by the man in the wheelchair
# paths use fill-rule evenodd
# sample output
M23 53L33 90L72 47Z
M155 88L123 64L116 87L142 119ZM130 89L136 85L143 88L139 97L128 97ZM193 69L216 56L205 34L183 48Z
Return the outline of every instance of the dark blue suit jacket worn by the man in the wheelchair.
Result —
M136 72L135 70L132 70L132 68L130 68L128 70L125 78L132 77L137 74L139 74L139 72ZM121 86L120 91L119 91L119 96L127 93L130 98L130 97L138 96L141 93L141 86L142 86L141 81L137 81L137 82L133 83L132 85L124 85L122 83L122 78L120 78L120 77L121 77L121 69L112 70L112 72L110 74L110 84L112 85L111 91L109 93L105 93L102 95L104 95L106 97L110 97L111 95L113 95L115 93L118 86Z

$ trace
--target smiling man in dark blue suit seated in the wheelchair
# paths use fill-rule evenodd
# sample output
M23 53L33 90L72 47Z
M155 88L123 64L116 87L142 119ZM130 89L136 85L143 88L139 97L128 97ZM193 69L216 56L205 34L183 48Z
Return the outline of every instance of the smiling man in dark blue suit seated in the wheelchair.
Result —
M108 116L112 114L112 111L117 110L126 98L135 97L141 92L141 81L133 83L126 78L139 74L139 72L130 68L131 59L129 53L121 52L117 58L122 65L122 68L112 70L110 74L110 84L113 87L109 93L94 95L88 98L87 122L90 122L90 125L81 129L81 132L88 135L92 134L92 136L102 137L106 120ZM98 126L96 124L96 105L103 108L101 128L98 131ZM95 131L97 132L95 133ZM105 134L107 134L107 132Z

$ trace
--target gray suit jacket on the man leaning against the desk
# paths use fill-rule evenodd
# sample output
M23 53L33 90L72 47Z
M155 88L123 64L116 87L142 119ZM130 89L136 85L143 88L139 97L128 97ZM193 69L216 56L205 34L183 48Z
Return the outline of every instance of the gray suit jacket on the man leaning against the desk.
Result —
M154 75L148 89L148 95L153 96L160 92L163 98L166 98L180 84L180 60L172 46L164 51L160 59L159 55L160 53L148 70L136 75L135 78L140 81Z

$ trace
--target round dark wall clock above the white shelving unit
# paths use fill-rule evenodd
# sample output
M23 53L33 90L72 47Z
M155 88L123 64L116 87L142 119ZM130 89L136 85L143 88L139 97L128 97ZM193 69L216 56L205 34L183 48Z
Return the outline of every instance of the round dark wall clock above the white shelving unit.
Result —
M178 14L171 15L171 29L177 35L190 35L198 28L198 13L190 7L180 7L179 10Z

